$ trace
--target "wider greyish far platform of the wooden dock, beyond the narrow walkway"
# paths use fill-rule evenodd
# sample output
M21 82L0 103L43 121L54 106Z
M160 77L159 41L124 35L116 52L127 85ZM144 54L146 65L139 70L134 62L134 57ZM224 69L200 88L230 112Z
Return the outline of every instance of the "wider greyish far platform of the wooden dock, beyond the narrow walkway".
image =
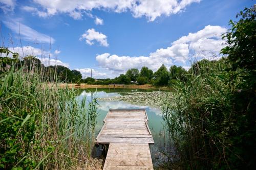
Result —
M154 144L147 122L144 109L110 110L104 119L104 126L96 138L96 143Z

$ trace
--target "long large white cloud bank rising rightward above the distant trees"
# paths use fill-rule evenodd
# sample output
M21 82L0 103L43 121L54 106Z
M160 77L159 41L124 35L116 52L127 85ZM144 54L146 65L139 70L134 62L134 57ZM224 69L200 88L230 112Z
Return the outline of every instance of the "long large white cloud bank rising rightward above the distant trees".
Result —
M149 56L118 56L104 53L96 56L99 65L109 70L125 71L129 68L141 68L147 66L153 70L158 69L161 64L166 66L181 65L188 69L191 63L188 63L189 56L198 60L209 58L218 54L225 46L225 40L222 40L221 34L227 30L220 26L206 26L204 29L189 33L174 41L166 48L160 48ZM190 61L191 62L191 61Z

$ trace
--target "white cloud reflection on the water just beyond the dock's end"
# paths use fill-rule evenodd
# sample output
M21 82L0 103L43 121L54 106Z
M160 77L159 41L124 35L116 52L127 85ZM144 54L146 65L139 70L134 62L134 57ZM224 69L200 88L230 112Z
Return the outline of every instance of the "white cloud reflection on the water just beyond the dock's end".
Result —
M139 106L131 103L126 103L122 101L98 101L99 109L104 111L109 111L109 109L146 109L147 112L154 112L156 115L161 115L161 110L156 108L151 108L148 106Z

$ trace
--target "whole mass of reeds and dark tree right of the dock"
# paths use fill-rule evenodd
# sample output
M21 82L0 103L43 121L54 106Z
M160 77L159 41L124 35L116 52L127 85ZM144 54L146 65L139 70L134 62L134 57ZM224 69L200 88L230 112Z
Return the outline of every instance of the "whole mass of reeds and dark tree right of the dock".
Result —
M163 103L174 146L168 168L255 167L255 6L239 16L225 34L227 56L193 64L187 80L177 80L173 99Z

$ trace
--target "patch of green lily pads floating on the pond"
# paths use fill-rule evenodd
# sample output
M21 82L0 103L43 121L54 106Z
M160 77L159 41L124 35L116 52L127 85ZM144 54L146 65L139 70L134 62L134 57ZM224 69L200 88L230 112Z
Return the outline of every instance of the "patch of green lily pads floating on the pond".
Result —
M140 106L152 106L161 108L162 100L172 98L172 92L153 91L153 92L126 92L122 96L111 98L98 98L100 101L124 101Z

